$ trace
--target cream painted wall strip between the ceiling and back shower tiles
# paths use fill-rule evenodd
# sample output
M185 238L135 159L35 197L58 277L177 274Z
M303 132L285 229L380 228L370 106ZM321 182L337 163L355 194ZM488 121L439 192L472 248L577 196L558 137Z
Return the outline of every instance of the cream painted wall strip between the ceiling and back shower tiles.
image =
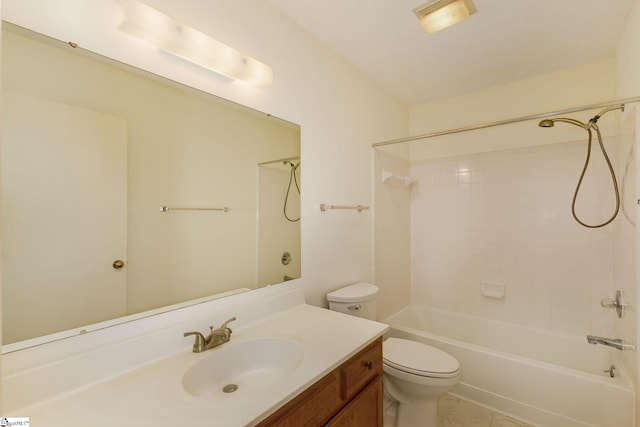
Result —
M511 118L548 113L615 99L613 59L542 74L411 109L411 134L455 129ZM591 112L572 117L586 120ZM607 125L615 120L605 117ZM605 123L603 119L600 123ZM420 160L462 154L551 144L581 137L579 129L557 127L553 132L535 121L437 137L411 144L411 159Z

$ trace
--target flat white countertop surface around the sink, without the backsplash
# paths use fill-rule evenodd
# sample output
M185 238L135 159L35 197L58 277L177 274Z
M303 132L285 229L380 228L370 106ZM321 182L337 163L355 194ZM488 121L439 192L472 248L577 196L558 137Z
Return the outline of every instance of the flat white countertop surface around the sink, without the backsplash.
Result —
M10 415L29 417L31 425L47 427L255 425L387 329L382 323L303 304L234 328L231 342L225 344L268 336L291 339L303 347L300 367L261 392L259 398L236 393L211 402L184 391L181 380L186 370L217 350L196 354L189 345L129 372Z

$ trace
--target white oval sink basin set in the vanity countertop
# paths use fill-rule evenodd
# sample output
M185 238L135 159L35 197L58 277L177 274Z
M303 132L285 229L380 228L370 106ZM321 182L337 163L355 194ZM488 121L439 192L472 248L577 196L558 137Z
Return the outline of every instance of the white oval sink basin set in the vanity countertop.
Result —
M304 354L298 344L281 338L231 342L208 352L182 378L187 393L208 399L245 395L281 382Z

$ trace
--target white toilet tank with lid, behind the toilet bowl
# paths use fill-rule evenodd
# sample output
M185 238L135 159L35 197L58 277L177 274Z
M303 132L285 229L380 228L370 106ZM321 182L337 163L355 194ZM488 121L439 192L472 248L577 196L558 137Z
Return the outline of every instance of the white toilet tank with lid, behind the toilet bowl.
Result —
M378 287L371 283L355 283L327 294L329 310L376 320Z

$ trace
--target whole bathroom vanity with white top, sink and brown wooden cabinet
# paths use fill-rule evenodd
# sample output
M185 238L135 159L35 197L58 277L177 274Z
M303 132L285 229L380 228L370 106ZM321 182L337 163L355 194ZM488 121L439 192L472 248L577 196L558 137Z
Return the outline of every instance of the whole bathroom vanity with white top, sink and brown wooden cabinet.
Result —
M228 343L192 352L184 332L233 316ZM307 305L296 286L209 301L5 354L3 416L48 427L381 426L387 329Z

